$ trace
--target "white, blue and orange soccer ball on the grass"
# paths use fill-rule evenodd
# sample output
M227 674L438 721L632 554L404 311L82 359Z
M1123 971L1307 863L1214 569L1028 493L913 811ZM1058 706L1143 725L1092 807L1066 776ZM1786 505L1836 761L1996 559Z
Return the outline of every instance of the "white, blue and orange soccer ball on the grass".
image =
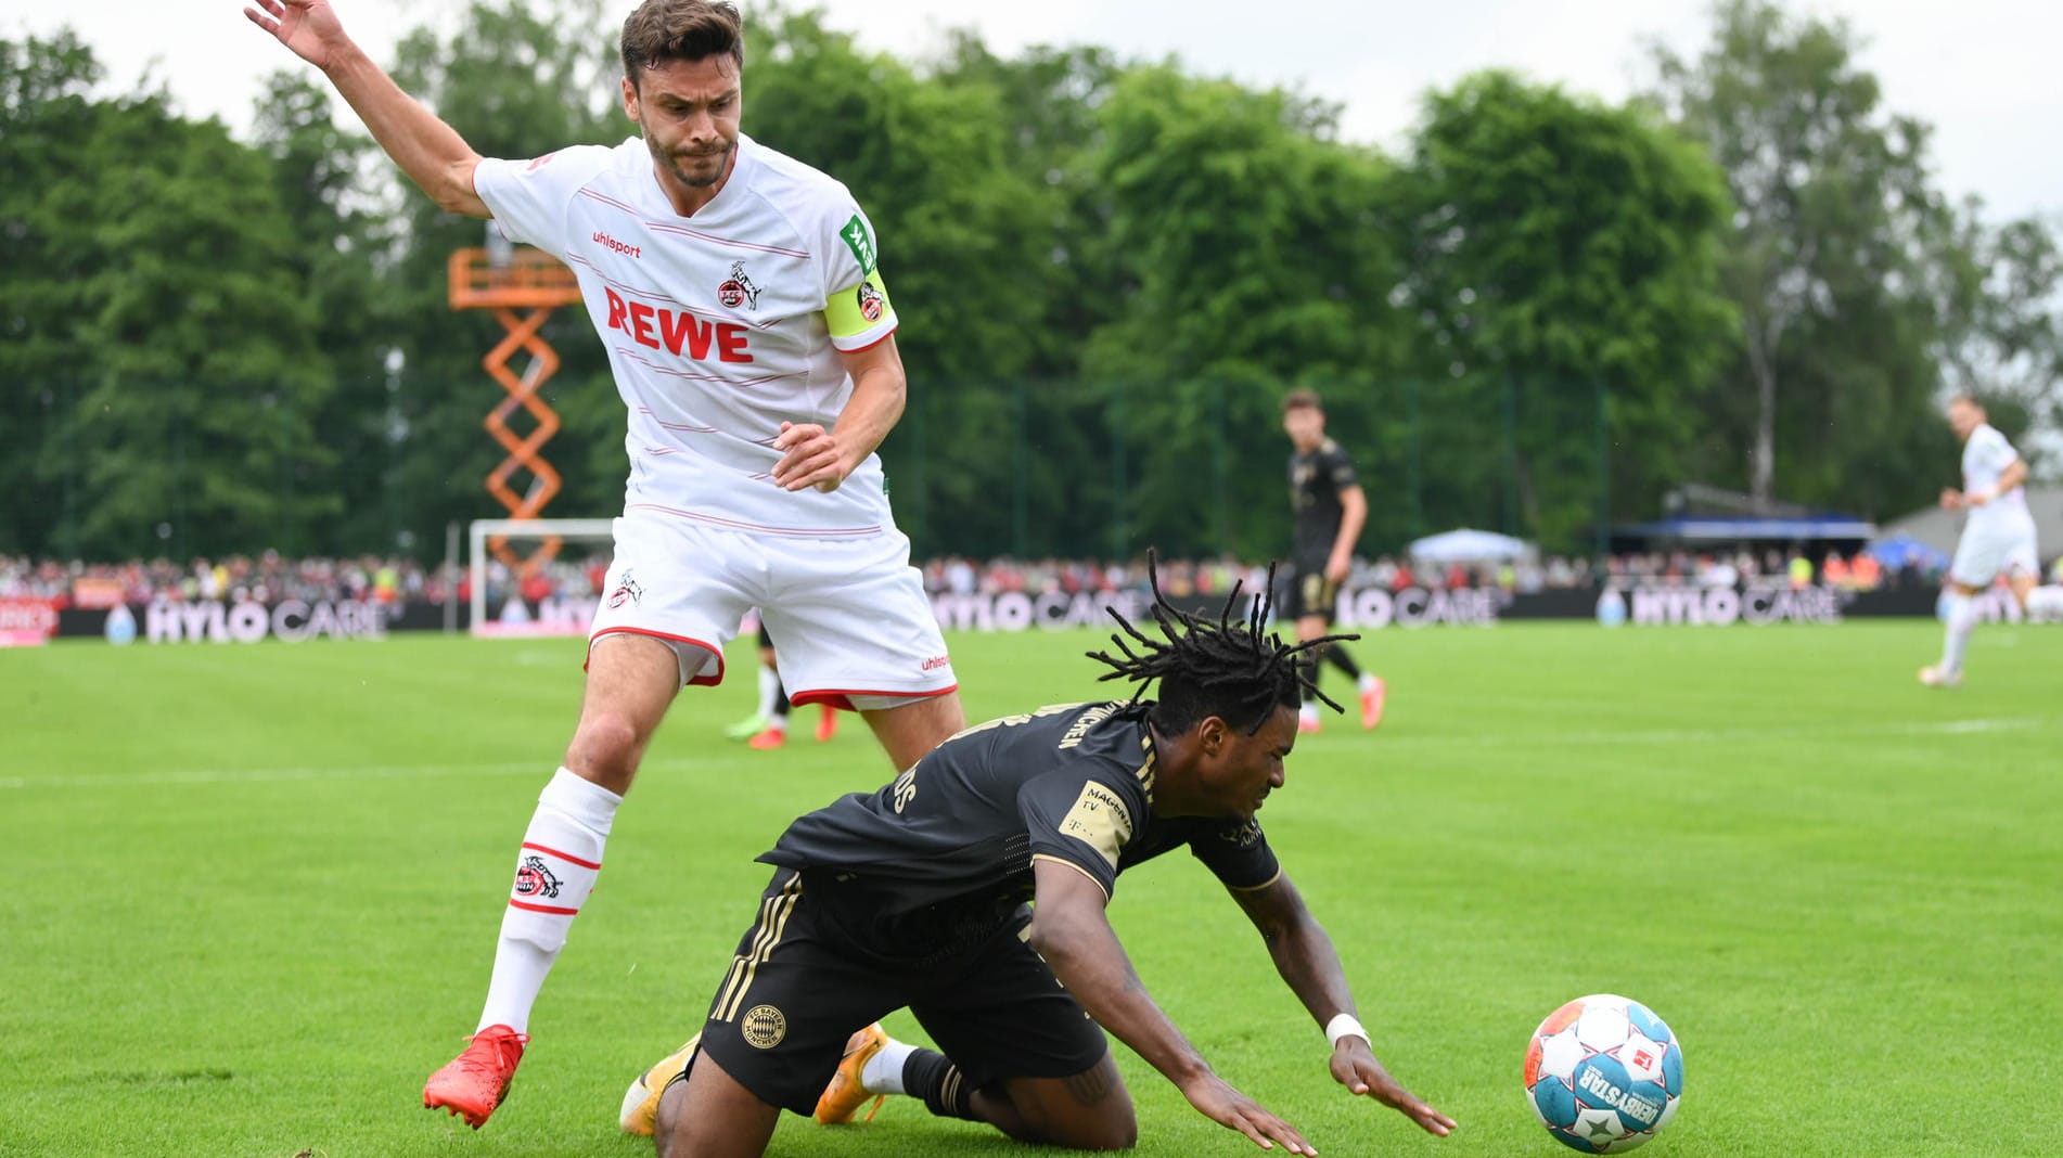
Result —
M1593 993L1547 1014L1527 1045L1527 1104L1556 1142L1619 1154L1661 1133L1683 1098L1683 1049L1640 1001Z

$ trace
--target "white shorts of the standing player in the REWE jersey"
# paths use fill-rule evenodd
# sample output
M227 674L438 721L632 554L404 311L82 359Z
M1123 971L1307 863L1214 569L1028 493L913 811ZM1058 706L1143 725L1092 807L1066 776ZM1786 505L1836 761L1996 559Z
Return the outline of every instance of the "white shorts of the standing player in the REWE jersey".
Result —
M650 635L675 645L683 684L720 684L724 645L759 608L790 703L873 709L959 686L902 532L800 540L631 513L615 540L590 653Z

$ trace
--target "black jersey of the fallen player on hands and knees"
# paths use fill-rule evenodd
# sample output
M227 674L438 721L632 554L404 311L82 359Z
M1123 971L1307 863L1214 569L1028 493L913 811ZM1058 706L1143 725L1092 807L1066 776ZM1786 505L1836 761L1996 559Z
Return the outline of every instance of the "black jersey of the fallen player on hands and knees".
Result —
M974 725L877 793L803 816L759 859L862 888L883 921L949 907L1009 913L1032 898L1032 861L1065 861L1104 888L1188 845L1232 888L1275 880L1260 824L1153 816L1147 705L1046 707Z

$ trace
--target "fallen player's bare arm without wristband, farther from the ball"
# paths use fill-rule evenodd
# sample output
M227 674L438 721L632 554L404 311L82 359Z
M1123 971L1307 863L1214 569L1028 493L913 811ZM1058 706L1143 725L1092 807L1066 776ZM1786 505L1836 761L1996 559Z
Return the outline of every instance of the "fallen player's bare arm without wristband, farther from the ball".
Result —
M1263 1150L1281 1146L1287 1154L1318 1152L1296 1127L1213 1074L1197 1047L1153 1003L1110 929L1102 886L1079 870L1044 857L1032 870L1038 878L1032 948L1095 1024L1159 1069L1211 1121L1238 1129Z

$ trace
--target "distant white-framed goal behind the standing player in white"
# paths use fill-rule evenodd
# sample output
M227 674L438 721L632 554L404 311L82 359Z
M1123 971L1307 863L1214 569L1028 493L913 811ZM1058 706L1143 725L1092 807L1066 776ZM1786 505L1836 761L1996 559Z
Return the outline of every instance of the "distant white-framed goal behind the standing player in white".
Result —
M466 525L472 635L588 635L615 554L613 519L474 519Z

